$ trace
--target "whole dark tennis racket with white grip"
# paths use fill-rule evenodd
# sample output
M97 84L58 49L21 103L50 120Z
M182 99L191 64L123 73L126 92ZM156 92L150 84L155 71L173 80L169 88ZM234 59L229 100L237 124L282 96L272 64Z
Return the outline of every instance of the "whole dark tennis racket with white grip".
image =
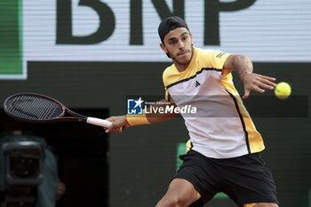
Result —
M100 118L79 115L58 100L33 92L16 93L4 101L4 111L12 118L29 123L51 123L60 121L91 123L109 127L111 122Z

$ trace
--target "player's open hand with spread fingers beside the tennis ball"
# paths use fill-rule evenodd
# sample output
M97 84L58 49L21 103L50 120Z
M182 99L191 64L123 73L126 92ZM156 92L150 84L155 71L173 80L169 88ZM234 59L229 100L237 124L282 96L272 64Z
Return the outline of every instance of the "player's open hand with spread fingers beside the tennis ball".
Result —
M274 90L276 84L274 77L262 76L255 73L246 73L243 76L244 95L243 100L246 100L250 96L251 91L265 92L265 89Z

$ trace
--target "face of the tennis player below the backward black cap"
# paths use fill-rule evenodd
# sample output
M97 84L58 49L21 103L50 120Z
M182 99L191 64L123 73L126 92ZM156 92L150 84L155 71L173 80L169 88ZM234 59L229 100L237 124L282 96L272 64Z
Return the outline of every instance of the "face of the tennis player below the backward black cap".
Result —
M192 57L192 35L187 28L171 30L160 44L165 53L169 53L171 60L177 64L187 64Z

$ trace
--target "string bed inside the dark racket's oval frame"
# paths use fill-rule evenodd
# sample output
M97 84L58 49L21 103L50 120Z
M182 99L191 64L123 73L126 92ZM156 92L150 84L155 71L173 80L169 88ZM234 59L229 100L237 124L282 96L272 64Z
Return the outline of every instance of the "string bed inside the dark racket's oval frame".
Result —
M17 96L7 103L12 115L29 120L48 120L63 115L64 109L56 102L36 96Z

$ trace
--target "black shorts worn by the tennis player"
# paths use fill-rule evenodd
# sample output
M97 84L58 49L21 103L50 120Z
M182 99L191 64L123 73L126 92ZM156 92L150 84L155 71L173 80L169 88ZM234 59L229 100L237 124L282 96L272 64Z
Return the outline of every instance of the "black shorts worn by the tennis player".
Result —
M206 157L193 150L183 160L174 179L187 179L201 198L190 206L203 206L219 192L239 206L244 203L279 203L271 171L259 153L227 159Z

